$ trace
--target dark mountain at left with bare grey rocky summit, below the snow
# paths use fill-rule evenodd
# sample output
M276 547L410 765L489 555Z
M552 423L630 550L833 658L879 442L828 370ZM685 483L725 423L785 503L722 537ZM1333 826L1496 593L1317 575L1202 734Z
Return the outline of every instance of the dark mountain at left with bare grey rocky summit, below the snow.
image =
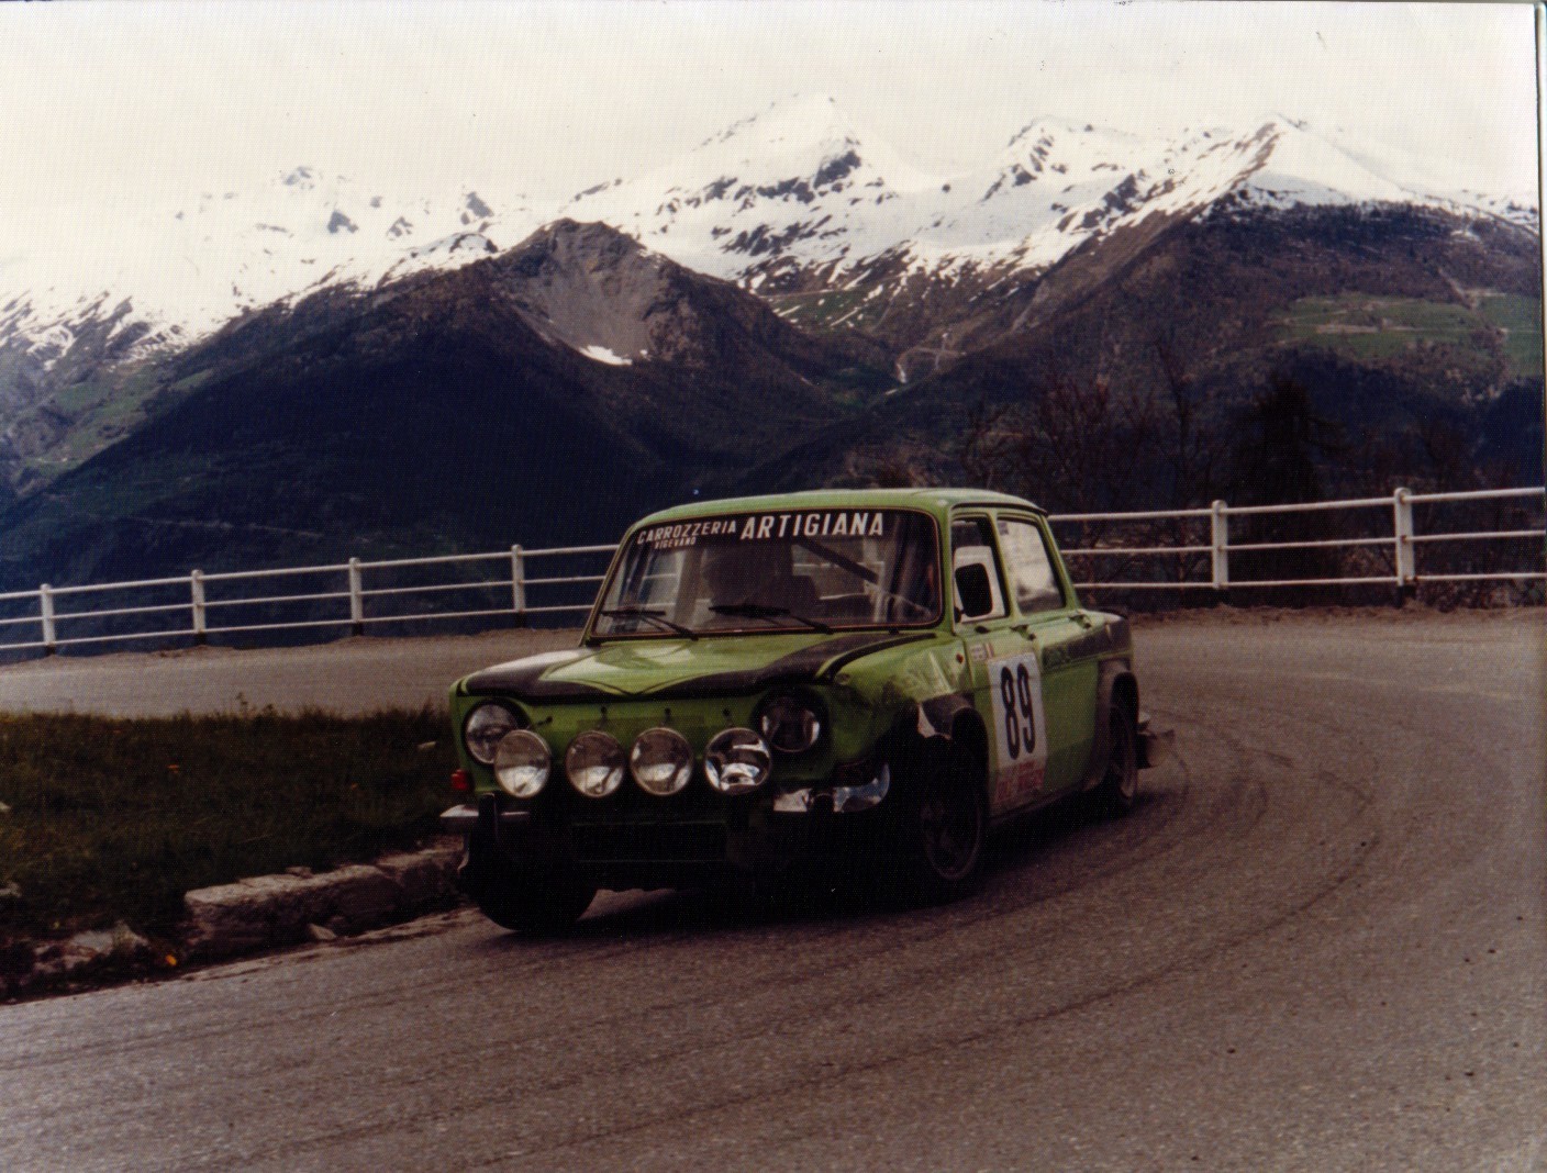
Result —
M569 281L558 325L543 311L555 255L566 278L597 278ZM650 355L628 365L586 352L605 335L575 334L630 315ZM560 223L498 258L255 315L181 355L172 374L192 391L0 513L0 578L507 544L534 513L545 541L591 539L749 445L814 434L846 410L826 379L863 383L863 360L613 229Z

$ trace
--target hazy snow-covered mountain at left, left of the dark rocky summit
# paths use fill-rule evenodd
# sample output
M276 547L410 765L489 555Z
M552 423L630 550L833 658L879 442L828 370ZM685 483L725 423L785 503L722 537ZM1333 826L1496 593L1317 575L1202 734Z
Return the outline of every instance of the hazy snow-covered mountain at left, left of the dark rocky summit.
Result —
M541 221L521 196L374 192L295 167L252 192L190 195L127 221L82 216L70 238L12 243L0 274L0 345L25 342L46 368L111 318L110 334L128 343L118 357L131 357L325 284L370 286L466 263Z

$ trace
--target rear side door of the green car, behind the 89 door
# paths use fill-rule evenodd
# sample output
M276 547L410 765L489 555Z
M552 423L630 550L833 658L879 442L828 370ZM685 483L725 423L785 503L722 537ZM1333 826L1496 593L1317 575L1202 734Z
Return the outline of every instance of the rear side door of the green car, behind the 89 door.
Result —
M1047 753L1043 791L1055 794L1080 784L1091 757L1100 646L1091 635L1097 620L1077 606L1044 519L998 512L995 533L1012 627L1036 649Z

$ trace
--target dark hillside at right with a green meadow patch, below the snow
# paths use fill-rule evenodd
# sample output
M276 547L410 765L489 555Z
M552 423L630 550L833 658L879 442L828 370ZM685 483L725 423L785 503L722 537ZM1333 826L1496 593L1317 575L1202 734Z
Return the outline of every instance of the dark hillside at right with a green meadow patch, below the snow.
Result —
M1539 416L1536 257L1530 233L1459 232L1411 209L1180 224L1118 260L1071 258L1077 272L1041 280L1019 331L760 474L791 488L956 481L964 437L992 420L1029 437L1018 459L1043 504L1207 502L1230 487L1252 403L1282 377L1327 425L1327 488L1425 484L1440 465L1528 481L1541 476L1539 423L1519 422L1533 394ZM1098 391L1100 419L1081 406ZM1505 419L1518 423L1494 434Z

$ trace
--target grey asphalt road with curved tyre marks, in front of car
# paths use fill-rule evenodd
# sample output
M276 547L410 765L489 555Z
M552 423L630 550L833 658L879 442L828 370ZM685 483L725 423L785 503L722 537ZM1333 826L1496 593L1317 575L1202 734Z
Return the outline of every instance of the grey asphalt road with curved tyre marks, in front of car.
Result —
M1145 626L1180 760L951 907L606 895L0 1006L0 1168L1544 1168L1542 637Z

